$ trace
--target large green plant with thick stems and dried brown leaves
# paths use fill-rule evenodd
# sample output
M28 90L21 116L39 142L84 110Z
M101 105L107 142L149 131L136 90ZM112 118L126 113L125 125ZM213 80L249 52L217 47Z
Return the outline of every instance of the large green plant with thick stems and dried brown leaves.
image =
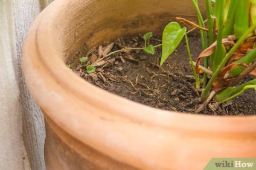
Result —
M203 52L197 58L196 67L193 67L196 88L200 88L197 80L198 74L200 71L204 72L202 85L204 90L201 94L204 103L197 109L197 112L200 112L214 96L219 103L223 103L242 94L249 88L256 90L255 79L238 85L248 74L256 76L256 64L254 62L256 58L256 1L216 0L213 9L211 1L206 0L208 29L205 29L198 2L196 0L191 0L191 2L196 8L199 25L182 18L178 18L178 20L200 29ZM214 23L216 23L215 28ZM162 36L161 64L170 56L171 52L178 46L177 42L179 43L184 36L190 55L187 35L184 30L186 29L174 22L165 27ZM208 36L206 31L208 31ZM177 37L179 41L175 41ZM214 37L216 37L216 41ZM208 44L211 45L208 46ZM204 65L200 66L202 59ZM200 69L203 67L204 69ZM208 67L211 71L205 71L208 70ZM209 73L211 74L209 75Z

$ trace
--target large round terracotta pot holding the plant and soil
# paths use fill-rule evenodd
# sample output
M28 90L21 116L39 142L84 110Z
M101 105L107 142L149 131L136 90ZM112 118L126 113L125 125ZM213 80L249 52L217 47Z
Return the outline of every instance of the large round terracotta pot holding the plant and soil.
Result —
M203 2L202 2L203 3ZM45 114L47 169L203 169L213 157L256 157L256 117L182 114L110 94L65 61L129 34L195 19L189 0L56 0L23 49L27 86Z

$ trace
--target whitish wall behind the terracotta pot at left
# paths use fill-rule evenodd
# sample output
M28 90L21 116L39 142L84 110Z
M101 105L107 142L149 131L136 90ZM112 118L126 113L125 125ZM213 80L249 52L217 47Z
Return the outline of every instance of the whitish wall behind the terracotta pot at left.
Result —
M50 0L0 1L0 169L45 169L43 115L25 87L22 43Z

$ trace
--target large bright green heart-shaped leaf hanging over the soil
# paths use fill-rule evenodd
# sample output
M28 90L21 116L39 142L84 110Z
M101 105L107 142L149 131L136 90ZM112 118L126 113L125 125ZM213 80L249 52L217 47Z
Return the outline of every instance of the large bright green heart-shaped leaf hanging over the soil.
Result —
M171 22L165 26L162 34L162 57L160 65L164 63L168 56L171 55L171 53L179 45L182 38L186 34L186 30L187 28L181 28L177 22Z

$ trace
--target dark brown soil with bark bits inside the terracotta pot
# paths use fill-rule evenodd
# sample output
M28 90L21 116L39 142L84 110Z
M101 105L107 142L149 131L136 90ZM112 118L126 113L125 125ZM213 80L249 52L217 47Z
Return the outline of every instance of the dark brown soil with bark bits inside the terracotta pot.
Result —
M189 37L191 53L196 56L201 52L200 37ZM150 38L151 44L160 44L161 37ZM105 47L107 46L104 44ZM127 47L143 47L144 40L141 36L118 38L114 41L111 51ZM99 52L100 50L100 52ZM98 64L95 73L86 73L86 65L100 58L99 53L106 52L101 47L93 52L88 52L89 60L86 64L69 61L75 73L83 79L97 85L104 90L127 99L168 111L194 113L200 104L200 92L194 88L192 68L189 64L185 42L159 67L161 47L156 48L155 55L150 55L143 50L118 52L110 55ZM110 53L109 52L109 53ZM85 56L81 50L77 53L76 61ZM251 77L248 77L249 79ZM256 115L255 91L248 90L223 105L210 105L200 114L210 115ZM216 107L217 106L217 107Z

